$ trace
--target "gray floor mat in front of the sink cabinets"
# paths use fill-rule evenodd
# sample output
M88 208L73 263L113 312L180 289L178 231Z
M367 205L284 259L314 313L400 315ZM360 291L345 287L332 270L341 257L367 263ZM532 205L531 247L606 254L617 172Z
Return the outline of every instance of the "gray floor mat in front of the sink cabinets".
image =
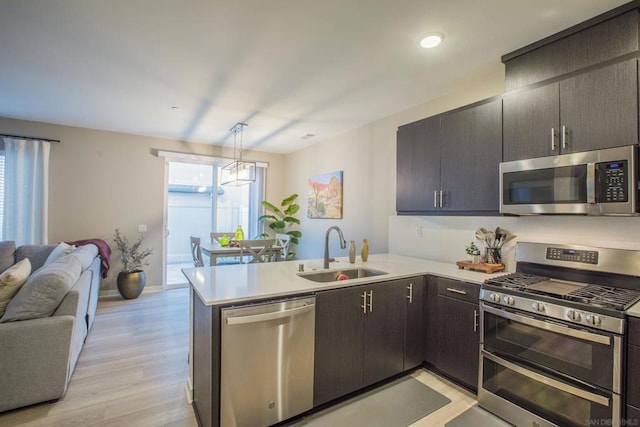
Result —
M451 400L412 377L403 377L309 415L292 427L406 427Z

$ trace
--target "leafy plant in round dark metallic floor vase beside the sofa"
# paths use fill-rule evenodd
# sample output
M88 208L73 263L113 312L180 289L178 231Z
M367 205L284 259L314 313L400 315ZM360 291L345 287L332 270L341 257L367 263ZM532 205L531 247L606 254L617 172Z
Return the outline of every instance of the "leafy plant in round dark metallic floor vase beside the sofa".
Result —
M129 244L129 239L120 234L120 230L116 228L113 234L113 241L116 249L120 251L120 262L122 269L118 273L118 292L125 299L135 299L140 296L144 285L147 283L147 276L142 267L149 265L146 258L153 253L151 249L142 249L143 237Z

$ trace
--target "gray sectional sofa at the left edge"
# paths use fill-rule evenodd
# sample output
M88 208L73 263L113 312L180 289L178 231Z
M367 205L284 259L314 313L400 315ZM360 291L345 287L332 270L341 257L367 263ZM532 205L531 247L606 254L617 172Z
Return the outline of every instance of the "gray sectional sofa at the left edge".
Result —
M0 242L0 275L25 258L31 265L0 317L0 412L63 397L93 325L98 248L60 247Z

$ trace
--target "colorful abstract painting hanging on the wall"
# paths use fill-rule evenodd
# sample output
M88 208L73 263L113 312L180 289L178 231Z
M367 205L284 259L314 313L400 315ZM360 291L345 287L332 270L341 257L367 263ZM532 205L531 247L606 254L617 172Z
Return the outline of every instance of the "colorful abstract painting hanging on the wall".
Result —
M309 178L307 217L342 218L342 171Z

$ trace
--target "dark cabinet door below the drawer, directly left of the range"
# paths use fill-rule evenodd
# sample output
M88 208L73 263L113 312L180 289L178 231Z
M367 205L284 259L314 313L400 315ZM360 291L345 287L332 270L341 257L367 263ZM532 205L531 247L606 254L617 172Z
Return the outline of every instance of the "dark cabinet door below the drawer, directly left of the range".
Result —
M479 306L439 296L438 355L436 367L467 387L478 387L477 328Z

